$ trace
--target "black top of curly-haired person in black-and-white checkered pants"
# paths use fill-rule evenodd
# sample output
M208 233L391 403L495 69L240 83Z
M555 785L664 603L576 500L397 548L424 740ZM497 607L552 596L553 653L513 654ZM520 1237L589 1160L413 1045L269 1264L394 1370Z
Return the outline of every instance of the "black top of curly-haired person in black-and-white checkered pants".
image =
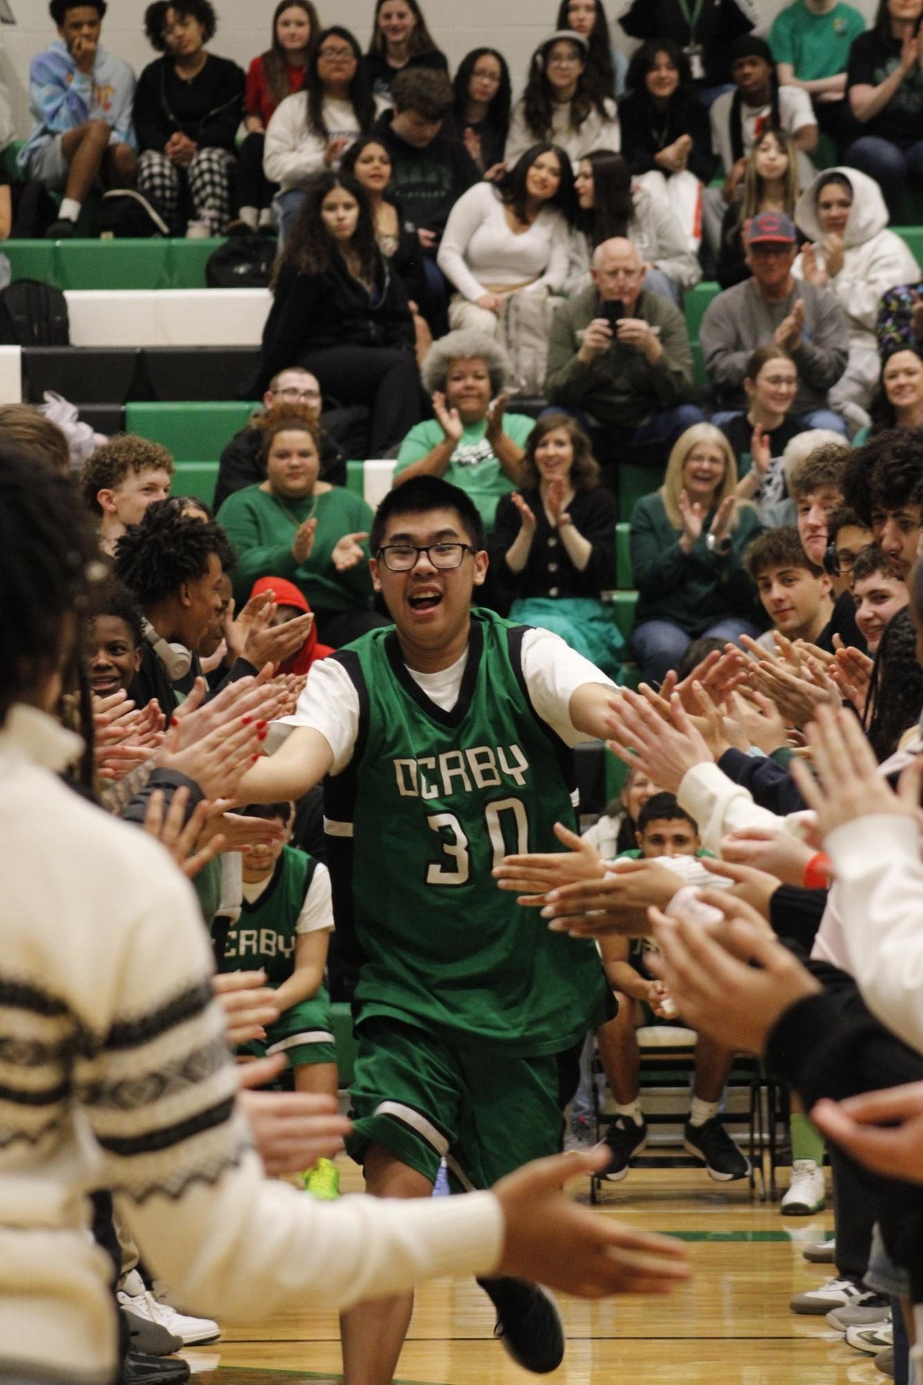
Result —
M230 58L209 60L192 82L176 75L167 57L149 62L134 91L134 133L138 150L163 150L180 132L201 150L234 152L237 127L244 114L244 69Z

